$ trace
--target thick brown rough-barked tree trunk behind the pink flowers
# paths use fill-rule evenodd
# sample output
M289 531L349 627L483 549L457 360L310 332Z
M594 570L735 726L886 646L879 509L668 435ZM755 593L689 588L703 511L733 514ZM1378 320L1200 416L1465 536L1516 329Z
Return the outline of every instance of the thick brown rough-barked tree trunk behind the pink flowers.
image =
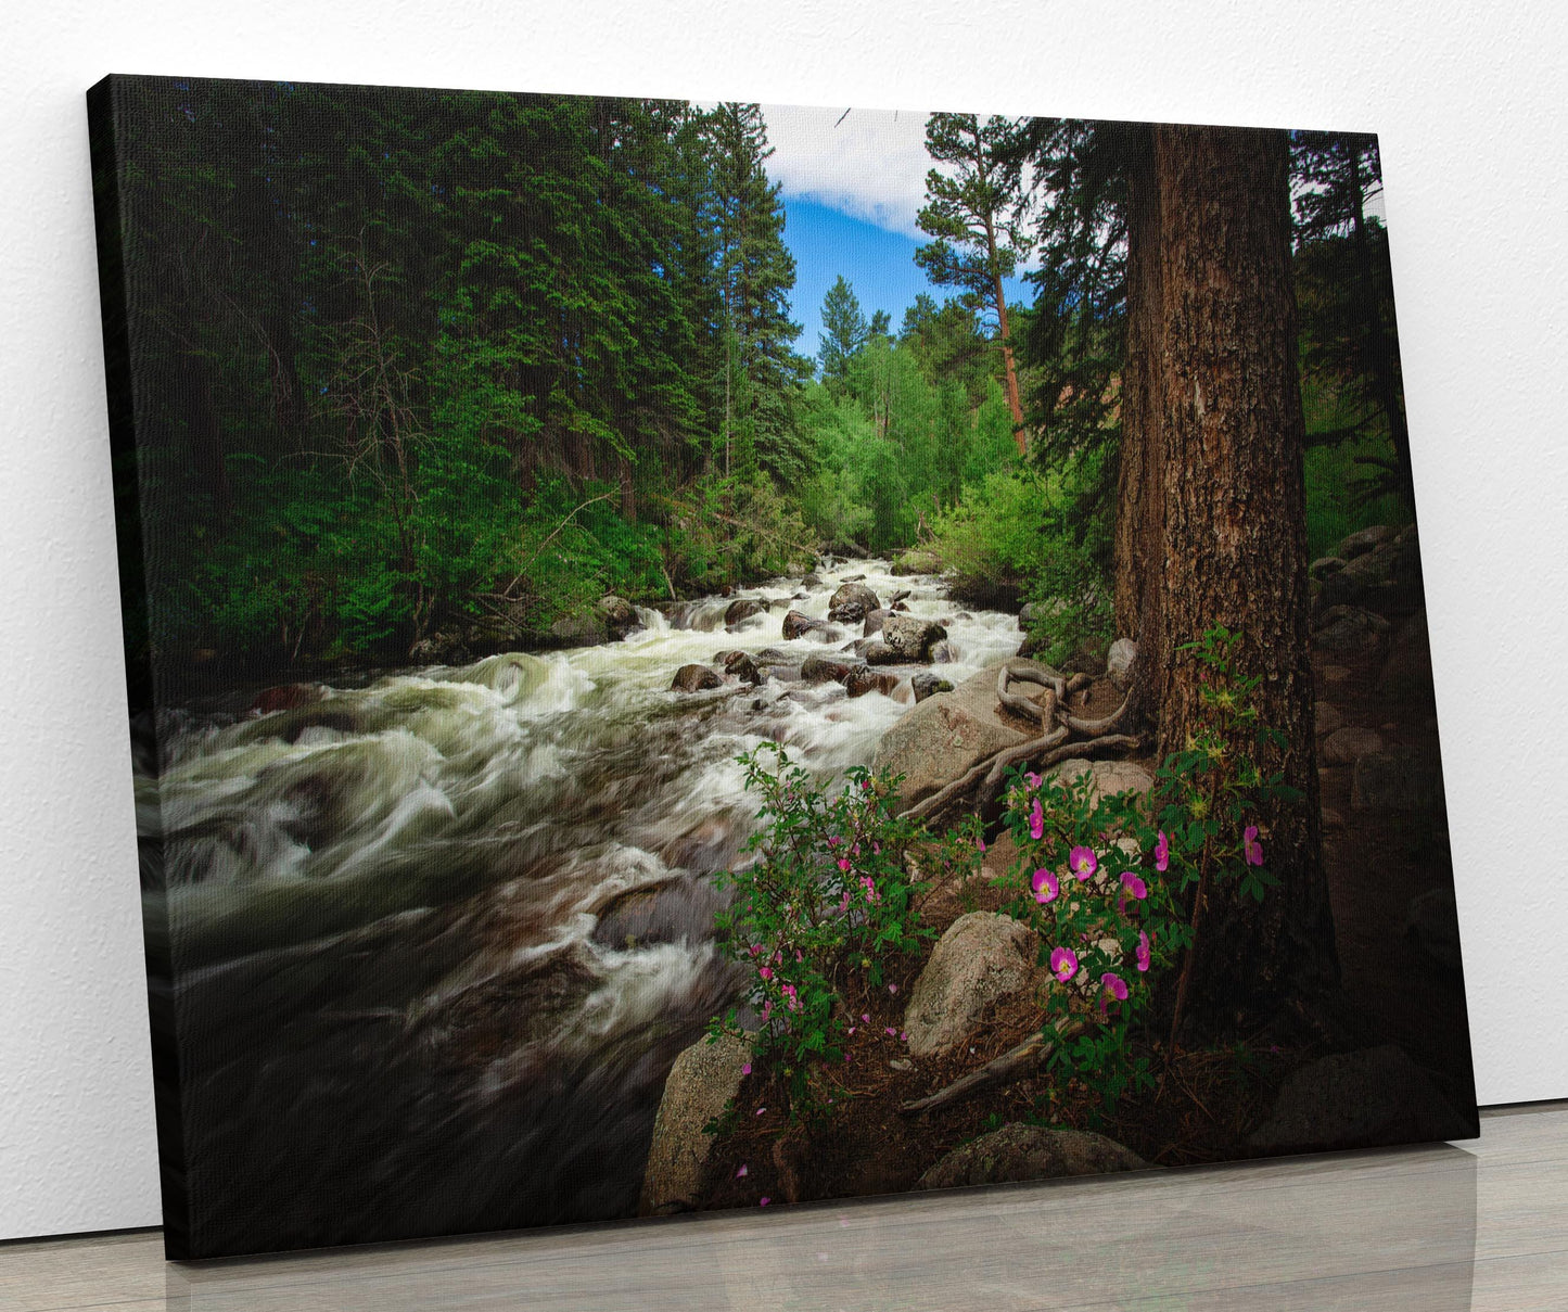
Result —
M1182 644L1242 635L1259 719L1286 738L1261 762L1298 790L1258 817L1261 901L1229 883L1201 911L1187 1017L1201 1035L1303 1009L1333 986L1308 658L1305 423L1281 132L1157 127L1163 442L1160 752L1204 721L1204 669ZM1237 835L1239 837L1239 835Z

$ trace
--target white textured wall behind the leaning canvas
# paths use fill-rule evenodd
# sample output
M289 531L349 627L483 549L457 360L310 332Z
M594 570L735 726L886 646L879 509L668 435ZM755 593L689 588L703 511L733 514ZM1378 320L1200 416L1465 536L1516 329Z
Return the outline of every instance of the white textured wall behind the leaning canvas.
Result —
M1377 130L1480 1100L1568 1096L1563 13L1461 0L11 9L0 1237L158 1220L82 102L110 71Z

